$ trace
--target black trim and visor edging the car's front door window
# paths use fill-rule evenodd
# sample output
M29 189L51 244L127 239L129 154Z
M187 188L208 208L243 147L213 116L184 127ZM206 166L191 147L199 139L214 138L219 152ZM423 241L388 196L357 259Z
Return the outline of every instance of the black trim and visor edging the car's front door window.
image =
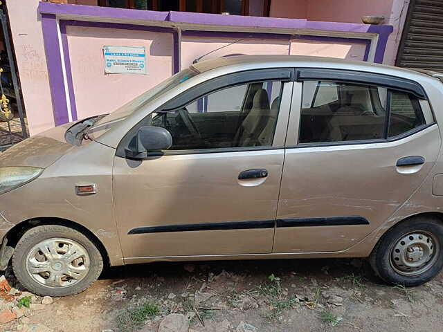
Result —
M188 104L189 100L197 100L198 98L213 93L220 89L228 89L231 86L237 86L241 84L247 84L251 82L266 82L266 81L280 81L293 82L295 80L295 71L293 67L278 67L278 68L264 68L264 69L252 69L248 71L238 71L235 73L228 73L226 75L221 75L215 77L206 82L202 82L195 86L192 86L187 91L184 91L176 98L165 102L154 111L147 114L150 116L152 113L161 113L167 111L174 111L180 109L181 107ZM281 92L283 91L283 84L281 87ZM146 118L146 117L145 117ZM118 147L116 149L116 156L122 158L128 158L125 153L125 149L129 146L132 138L136 135L138 128L143 125L143 120L139 121L132 129L127 131L125 136L120 140ZM274 133L275 135L275 133ZM284 149L284 147L276 146L266 146L266 147L226 147L218 149L192 149L192 150L163 150L163 151L148 151L147 158L155 156L168 156L168 155L181 155L181 154L209 154L209 153L221 153L221 152L240 152L240 151L259 151L259 150L273 150L273 149Z

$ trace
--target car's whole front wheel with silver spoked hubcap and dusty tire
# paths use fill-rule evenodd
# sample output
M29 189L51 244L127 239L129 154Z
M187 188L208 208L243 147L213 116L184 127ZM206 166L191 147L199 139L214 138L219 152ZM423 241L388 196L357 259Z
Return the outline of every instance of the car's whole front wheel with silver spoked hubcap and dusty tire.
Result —
M77 230L41 225L21 237L12 268L28 291L66 296L78 294L95 282L103 260L94 243Z

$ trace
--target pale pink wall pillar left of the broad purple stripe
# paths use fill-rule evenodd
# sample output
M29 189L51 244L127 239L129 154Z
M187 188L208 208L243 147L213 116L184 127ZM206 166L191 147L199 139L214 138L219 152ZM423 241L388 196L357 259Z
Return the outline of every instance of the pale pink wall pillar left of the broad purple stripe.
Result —
M8 1L11 37L31 135L54 127L38 3L38 0Z

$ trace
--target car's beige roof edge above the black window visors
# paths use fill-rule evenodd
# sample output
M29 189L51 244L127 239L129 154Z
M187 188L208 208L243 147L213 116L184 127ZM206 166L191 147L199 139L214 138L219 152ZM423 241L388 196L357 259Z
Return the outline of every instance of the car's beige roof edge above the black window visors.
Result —
M341 68L357 71L368 71L372 73L386 73L399 77L429 77L428 73L415 71L408 68L399 68L385 64L375 64L374 62L364 62L349 59L336 59L333 57L311 57L301 55L234 55L228 57L219 57L209 59L196 64L192 68L200 73L211 71L216 68L232 66L246 66L251 68L269 68L269 67L320 67L320 68ZM413 78L410 77L410 78ZM435 77L435 76L434 76Z

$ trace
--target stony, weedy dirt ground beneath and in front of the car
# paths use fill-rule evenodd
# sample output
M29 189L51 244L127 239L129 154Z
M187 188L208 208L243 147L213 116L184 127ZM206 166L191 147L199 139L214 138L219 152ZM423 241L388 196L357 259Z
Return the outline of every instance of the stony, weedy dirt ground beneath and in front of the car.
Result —
M404 288L360 259L156 263L109 268L84 293L41 302L0 331L441 331L443 275Z

